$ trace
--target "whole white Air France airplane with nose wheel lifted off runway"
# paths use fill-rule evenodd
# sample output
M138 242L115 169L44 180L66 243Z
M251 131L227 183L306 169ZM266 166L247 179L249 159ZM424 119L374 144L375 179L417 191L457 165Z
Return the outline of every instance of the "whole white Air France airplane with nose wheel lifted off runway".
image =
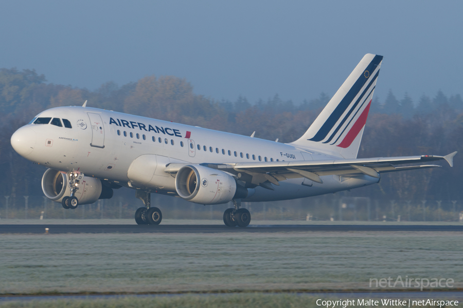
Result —
M14 150L49 169L42 189L66 209L111 198L121 186L145 204L137 224L157 225L151 193L198 204L233 202L229 227L246 227L241 201L289 200L378 183L384 172L440 167L453 156L357 158L383 57L367 54L307 132L291 143L235 135L83 106L46 110L11 137ZM395 167L411 164L415 166Z

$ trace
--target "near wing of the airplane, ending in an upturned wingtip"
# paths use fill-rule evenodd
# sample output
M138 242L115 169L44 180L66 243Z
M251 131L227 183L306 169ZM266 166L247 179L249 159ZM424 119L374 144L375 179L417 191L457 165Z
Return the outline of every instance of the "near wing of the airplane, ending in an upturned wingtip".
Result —
M426 163L436 160L446 160L453 167L453 157L457 152L446 156L421 155L399 157L375 157L356 159L330 159L330 160L301 160L301 161L259 161L259 162L234 162L224 164L201 164L203 166L220 169L235 174L243 182L254 185L265 185L268 181L279 185L279 181L288 178L305 177L316 183L323 183L320 176L323 175L356 175L366 174L379 178L379 173L395 172L403 170L441 167ZM416 166L395 167L393 165L419 164ZM165 172L175 173L185 164L170 164Z

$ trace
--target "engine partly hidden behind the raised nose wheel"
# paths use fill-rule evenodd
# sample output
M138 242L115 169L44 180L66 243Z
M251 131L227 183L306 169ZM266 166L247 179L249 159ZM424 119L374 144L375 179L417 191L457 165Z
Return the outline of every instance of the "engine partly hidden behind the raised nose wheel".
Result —
M66 174L59 170L48 169L42 177L42 190L47 198L52 201L61 202L64 197L70 196L70 190L67 186ZM109 199L113 196L113 190L101 185L97 178L84 176L80 183L75 196L81 204L91 204L98 199Z

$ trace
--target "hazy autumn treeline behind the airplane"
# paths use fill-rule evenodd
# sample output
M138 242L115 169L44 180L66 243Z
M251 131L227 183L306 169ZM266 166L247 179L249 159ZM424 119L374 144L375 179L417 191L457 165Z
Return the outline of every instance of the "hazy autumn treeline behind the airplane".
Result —
M10 137L33 116L56 106L82 105L180 122L204 128L291 142L310 126L330 97L294 103L275 95L249 102L215 100L194 94L185 79L148 76L122 86L113 82L97 90L47 83L34 70L0 69L0 194L41 195L45 169L31 166L11 148ZM396 98L392 90L384 102L373 101L359 157L435 154L453 151L455 167L383 174L381 183L345 193L351 196L397 200L463 200L463 100L460 95L423 95L413 102L407 94ZM443 162L443 164L446 164Z

